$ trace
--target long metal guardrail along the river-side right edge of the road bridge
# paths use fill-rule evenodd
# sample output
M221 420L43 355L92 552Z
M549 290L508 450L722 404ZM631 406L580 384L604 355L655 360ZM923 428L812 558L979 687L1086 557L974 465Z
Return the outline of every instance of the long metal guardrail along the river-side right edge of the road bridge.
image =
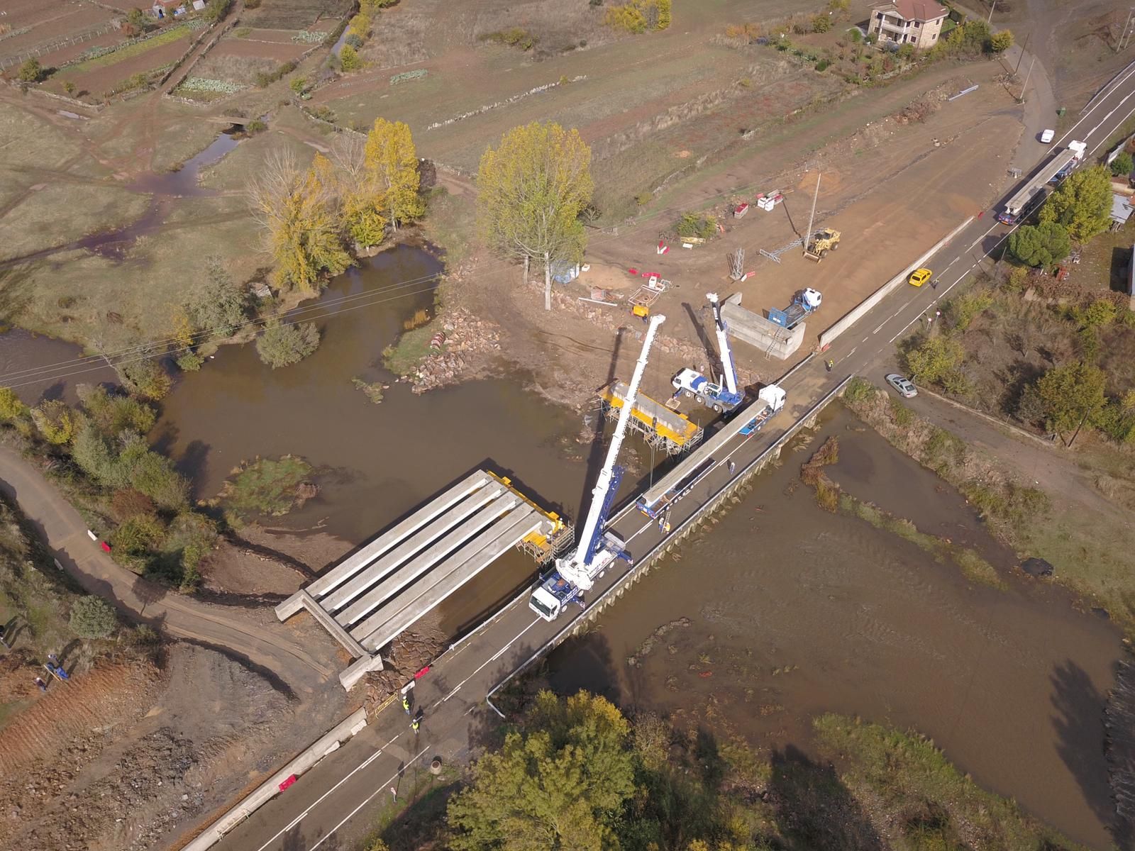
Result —
M807 361L808 361L808 359L805 359L799 364L797 364L796 366L793 366L784 376L784 378L788 378L788 376L790 376L797 369L799 369L800 366L802 366ZM538 647L532 652L531 656L529 656L527 659L524 659L524 662L522 662L520 665L518 665L512 671L512 673L510 673L504 680L502 680L496 685L494 685L491 689L489 689L488 693L485 696L485 702L488 703L488 707L493 711L495 711L497 715L499 715L502 718L504 718L505 717L504 713L502 713L499 709L497 709L496 706L494 706L494 703L493 703L493 696L497 691L499 691L502 688L504 688L508 682L511 682L519 674L521 674L524 671L527 671L528 667L533 662L536 662L541 656L544 656L546 652L548 652L549 650L554 649L557 644L560 644L565 638L568 638L568 635L570 635L572 632L574 632L577 629L579 629L580 624L582 622L585 622L590 615L592 615L592 614L602 610L603 606L606 604L606 601L608 600L608 598L613 593L615 593L615 592L622 590L623 588L625 588L627 584L630 583L634 579L634 576L638 574L638 572L640 570L649 567L650 564L661 554L663 554L665 551L665 549L666 549L667 546L670 546L673 541L678 540L687 531L691 530L692 526L696 525L701 520L701 517L705 514L707 514L707 513L712 512L714 508L716 508L720 505L721 500L724 497L729 496L735 488L740 487L751 475L754 475L757 472L759 472L760 469L765 465L768 456L773 452L779 450L785 443L788 443L790 439L792 439L792 437L796 435L796 432L799 431L804 427L804 423L806 423L807 421L812 420L816 414L818 414L821 411L823 411L825 407L827 407L827 405L831 404L831 402L832 402L833 398L835 398L836 396L840 396L843 393L843 389L848 386L848 382L852 378L854 378L854 376L848 376L842 381L840 381L840 384L836 385L834 389L832 389L831 391L829 391L819 402L817 402L815 405L813 405L810 408L808 408L807 413L805 413L802 416L800 416L799 419L797 419L797 421L794 423L792 423L791 426L789 426L788 429L784 430L784 433L781 435L779 438L776 438L772 444L770 444L768 447L764 452L762 452L756 458L754 458L745 467L742 467L741 471L737 475L734 475L732 479L730 479L728 482L725 482L721 488L718 488L713 494L713 496L711 496L708 499L706 499L706 502L701 505L701 507L699 507L696 512L693 512L693 514L691 514L689 517L687 517L684 521L682 521L682 523L680 523L670 534L667 534L665 538L663 538L661 541L658 541L658 544L656 544L646 555L644 555L641 558L636 559L634 564L631 565L631 567L627 571L627 573L624 573L622 576L620 576L617 580L615 580L615 582L611 585L611 588L608 588L606 591L604 591L598 597L596 597L595 600L592 600L591 604L586 609L583 609L579 614L577 614L568 623L566 626L564 626L553 638L548 639L543 644L540 644L540 647ZM631 506L628 506L628 508L630 508L630 507ZM625 511L627 509L624 508L623 512L621 512L620 514L625 513Z

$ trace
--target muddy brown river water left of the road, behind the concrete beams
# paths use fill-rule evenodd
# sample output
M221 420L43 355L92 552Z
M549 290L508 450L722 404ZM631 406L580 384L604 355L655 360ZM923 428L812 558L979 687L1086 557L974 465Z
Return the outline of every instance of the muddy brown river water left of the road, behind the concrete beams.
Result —
M272 525L318 530L351 545L371 538L455 479L486 466L543 505L579 515L587 447L580 416L520 381L472 381L420 396L394 384L382 348L406 317L432 305L440 263L401 246L336 278L295 319L312 319L322 343L286 369L262 364L252 344L225 346L182 376L162 403L159 444L212 496L243 460L302 455L319 471L319 497ZM421 281L405 286L404 281ZM351 379L390 385L372 404ZM312 565L321 567L322 565ZM443 605L443 629L460 630L526 583L535 563L510 553Z

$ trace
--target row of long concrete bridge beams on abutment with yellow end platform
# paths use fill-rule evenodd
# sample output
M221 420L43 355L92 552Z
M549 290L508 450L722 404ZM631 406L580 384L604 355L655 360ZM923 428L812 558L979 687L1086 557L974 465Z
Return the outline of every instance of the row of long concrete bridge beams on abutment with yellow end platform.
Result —
M468 475L276 607L300 609L359 659L346 688L381 667L378 651L512 547L544 563L571 544L573 530L503 477Z

